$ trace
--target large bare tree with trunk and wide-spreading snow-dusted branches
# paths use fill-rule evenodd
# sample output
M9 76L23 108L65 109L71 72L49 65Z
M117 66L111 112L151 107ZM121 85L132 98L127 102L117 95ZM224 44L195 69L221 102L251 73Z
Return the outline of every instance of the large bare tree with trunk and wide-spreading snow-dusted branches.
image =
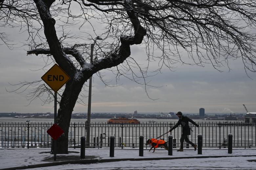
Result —
M128 78L147 84L148 68L140 68L132 58L132 45L144 44L148 64L159 64L156 72L163 66L172 69L177 62L209 63L221 71L229 59L238 58L246 72L256 72L255 0L2 0L0 5L1 26L26 23L31 48L28 54L52 57L71 77L59 103L57 123L65 135L58 139L58 153L67 153L71 114L90 76L110 69L117 79L129 72ZM106 31L100 36L111 40L99 48L93 63L86 57L83 43L65 41L69 32L64 30L62 38L57 36L57 28L78 20L81 27L92 20L104 24ZM39 26L35 27L35 22ZM37 37L40 41L35 41ZM156 55L154 50L161 54Z

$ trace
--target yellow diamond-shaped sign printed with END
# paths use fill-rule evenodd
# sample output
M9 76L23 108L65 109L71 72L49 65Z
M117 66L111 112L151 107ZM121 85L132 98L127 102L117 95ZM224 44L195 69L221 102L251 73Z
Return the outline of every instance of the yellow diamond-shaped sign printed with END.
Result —
M66 84L70 76L68 76L58 64L54 64L48 72L41 77L54 92L57 92L64 84Z

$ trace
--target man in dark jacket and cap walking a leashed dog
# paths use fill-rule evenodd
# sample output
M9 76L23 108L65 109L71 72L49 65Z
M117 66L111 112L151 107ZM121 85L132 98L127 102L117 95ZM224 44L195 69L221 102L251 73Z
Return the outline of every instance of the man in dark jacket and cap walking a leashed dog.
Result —
M172 132L173 129L175 129L176 127L178 127L179 125L181 125L182 128L182 134L181 134L181 139L180 139L180 142L181 142L181 148L177 151L180 151L180 152L183 152L183 143L184 143L184 140L191 144L195 150L197 150L197 145L194 144L193 142L189 141L188 139L188 135L191 135L191 132L190 132L190 127L188 125L188 122L191 122L192 124L194 124L196 127L199 127L198 124L196 124L193 120L189 119L187 116L183 116L181 111L178 111L178 113L176 114L178 117L179 117L179 121L177 122L177 124L172 127L169 132Z

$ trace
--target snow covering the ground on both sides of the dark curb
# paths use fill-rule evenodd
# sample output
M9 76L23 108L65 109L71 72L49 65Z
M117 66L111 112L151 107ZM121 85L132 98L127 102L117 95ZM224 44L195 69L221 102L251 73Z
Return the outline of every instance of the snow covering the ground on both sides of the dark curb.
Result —
M26 166L33 164L47 163L43 161L46 158L51 157L53 161L53 155L49 152L49 148L15 148L15 149L0 149L0 168L11 168L18 166ZM80 156L80 149L69 149L73 151L68 155L58 156ZM173 150L173 156L168 156L168 151L157 149L155 153L144 150L144 156L139 157L138 149L117 149L115 148L115 157L109 157L109 148L92 148L85 150L86 156L96 156L96 159L117 159L117 158L171 158L171 157L187 157L188 159L175 159L175 160L156 160L156 161L118 161L118 162L104 162L94 164L66 164L34 169L47 169L47 170L67 170L67 169L90 169L90 170L124 170L124 169L253 169L256 170L256 149L233 149L232 154L227 153L227 149L204 149L203 154L198 155L197 151L184 150L184 152L176 152ZM241 157L242 155L251 155L250 157ZM189 158L191 156L236 156L236 157L221 157L221 158Z

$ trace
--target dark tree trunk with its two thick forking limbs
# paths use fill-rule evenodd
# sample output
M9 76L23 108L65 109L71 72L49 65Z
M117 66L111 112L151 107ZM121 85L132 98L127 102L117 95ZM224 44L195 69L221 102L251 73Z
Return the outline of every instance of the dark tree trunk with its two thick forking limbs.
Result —
M44 34L47 39L50 48L50 54L53 56L56 63L71 77L66 84L64 93L61 96L59 104L59 110L57 115L57 124L63 129L64 135L57 139L57 153L68 153L68 132L71 120L71 114L75 107L76 100L83 87L85 80L89 79L97 71L104 68L111 68L122 63L127 57L130 56L130 45L140 44L143 37L146 35L146 30L140 25L139 19L133 11L127 11L128 16L134 26L134 36L122 36L120 37L121 45L116 53L112 54L112 57L105 57L100 62L95 62L89 68L84 68L80 72L80 77L76 77L77 70L72 61L68 58L66 53L62 49L61 42L59 41L56 30L55 20L52 18L50 7L54 0L34 0L40 18L44 25ZM108 55L107 55L108 56ZM83 62L83 60L78 61ZM83 64L88 64L84 61Z

